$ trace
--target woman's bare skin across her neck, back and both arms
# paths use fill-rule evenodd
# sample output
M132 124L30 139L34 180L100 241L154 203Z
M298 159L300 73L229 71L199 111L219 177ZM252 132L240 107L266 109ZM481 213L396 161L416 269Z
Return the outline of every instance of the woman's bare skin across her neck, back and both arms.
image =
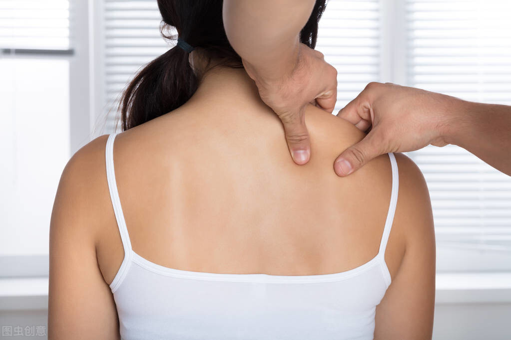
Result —
M373 258L390 200L388 156L339 178L332 162L364 134L312 105L305 121L313 153L298 166L280 119L246 72L217 68L182 107L119 134L115 176L133 250L165 267L237 274L338 273ZM124 252L106 181L106 139L73 155L57 190L50 339L119 338L108 284ZM430 339L431 205L419 169L403 154L396 158L399 198L385 252L392 283L377 306L375 338Z

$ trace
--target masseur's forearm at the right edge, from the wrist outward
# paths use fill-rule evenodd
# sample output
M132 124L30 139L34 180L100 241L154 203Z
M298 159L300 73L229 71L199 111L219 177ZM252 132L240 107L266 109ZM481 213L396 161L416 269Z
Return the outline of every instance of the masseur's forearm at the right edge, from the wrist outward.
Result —
M445 139L511 176L511 106L455 100Z

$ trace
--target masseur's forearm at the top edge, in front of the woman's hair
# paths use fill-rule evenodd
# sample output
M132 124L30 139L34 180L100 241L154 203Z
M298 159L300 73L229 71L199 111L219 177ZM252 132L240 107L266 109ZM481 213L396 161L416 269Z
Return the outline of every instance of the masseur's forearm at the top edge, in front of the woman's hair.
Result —
M223 21L230 44L250 74L277 80L290 74L298 59L299 33L314 0L225 0Z

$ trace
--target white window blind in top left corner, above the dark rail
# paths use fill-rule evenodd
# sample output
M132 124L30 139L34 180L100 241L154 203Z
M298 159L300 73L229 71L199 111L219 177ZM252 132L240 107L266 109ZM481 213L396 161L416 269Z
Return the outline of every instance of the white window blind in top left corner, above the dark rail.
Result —
M0 48L69 48L69 1L0 0Z

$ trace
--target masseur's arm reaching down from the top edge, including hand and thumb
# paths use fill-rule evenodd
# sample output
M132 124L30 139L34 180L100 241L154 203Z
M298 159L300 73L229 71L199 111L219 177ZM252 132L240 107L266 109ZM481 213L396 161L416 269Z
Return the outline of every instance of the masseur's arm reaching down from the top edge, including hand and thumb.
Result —
M261 99L281 118L297 164L310 158L305 126L308 103L332 113L337 71L323 55L301 44L299 34L315 0L225 0L223 22L230 44L240 55Z

